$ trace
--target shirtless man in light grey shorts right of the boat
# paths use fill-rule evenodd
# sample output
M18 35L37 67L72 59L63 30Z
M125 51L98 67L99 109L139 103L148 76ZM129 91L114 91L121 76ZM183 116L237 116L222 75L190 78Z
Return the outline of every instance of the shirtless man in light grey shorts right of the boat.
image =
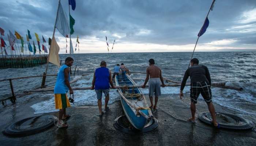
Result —
M162 87L165 87L165 84L163 82L162 71L155 65L154 59L149 59L148 62L149 67L147 68L147 77L142 88L146 87L150 77L148 81L149 99L151 103L150 108L157 110L158 97L161 96L160 80L162 82ZM155 105L153 105L153 93L155 93Z

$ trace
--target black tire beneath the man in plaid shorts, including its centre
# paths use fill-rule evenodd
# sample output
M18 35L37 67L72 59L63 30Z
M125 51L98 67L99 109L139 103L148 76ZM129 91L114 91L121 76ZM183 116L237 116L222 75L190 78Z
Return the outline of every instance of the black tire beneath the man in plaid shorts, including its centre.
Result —
M233 130L247 130L253 127L252 122L236 115L226 114L222 112L216 112L216 115L217 119L218 117L223 119L223 121L217 121L219 122L219 126L221 128ZM206 124L213 126L213 124L211 123L212 118L210 112L200 113L198 115L198 119Z

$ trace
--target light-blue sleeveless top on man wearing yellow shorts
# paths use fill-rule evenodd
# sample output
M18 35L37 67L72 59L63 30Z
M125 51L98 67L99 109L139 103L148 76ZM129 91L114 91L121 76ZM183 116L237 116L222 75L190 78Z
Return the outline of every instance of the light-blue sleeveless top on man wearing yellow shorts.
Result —
M68 93L68 87L65 84L64 69L69 68L67 65L62 65L57 74L57 81L54 87L54 94ZM70 81L70 74L68 74L68 81Z

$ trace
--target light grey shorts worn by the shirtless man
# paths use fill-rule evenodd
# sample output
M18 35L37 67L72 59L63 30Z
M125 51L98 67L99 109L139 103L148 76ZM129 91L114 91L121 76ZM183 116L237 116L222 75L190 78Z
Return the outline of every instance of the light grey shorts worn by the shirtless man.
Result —
M150 78L148 81L148 90L149 90L149 97L153 96L161 96L161 87L160 87L160 78Z

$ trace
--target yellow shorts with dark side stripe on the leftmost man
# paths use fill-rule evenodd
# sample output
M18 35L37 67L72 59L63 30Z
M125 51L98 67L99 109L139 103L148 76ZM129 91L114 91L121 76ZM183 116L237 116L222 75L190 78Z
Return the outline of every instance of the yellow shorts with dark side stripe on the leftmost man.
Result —
M63 109L70 107L67 94L54 94L55 97L55 108Z

